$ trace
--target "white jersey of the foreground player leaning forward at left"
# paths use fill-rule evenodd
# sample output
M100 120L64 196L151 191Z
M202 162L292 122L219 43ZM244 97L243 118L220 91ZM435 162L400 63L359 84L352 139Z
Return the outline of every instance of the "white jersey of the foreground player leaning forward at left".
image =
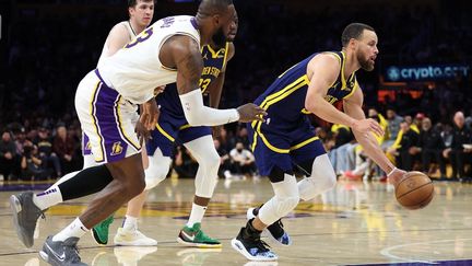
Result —
M104 58L98 71L105 83L126 100L142 104L154 96L154 89L177 81L177 71L158 59L162 45L174 35L192 37L200 46L193 16L162 19L144 30L115 55Z

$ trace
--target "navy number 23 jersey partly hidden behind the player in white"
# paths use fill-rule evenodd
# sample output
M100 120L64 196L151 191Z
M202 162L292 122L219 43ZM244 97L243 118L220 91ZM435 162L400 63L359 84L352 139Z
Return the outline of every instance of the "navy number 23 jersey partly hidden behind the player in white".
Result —
M202 93L206 92L210 82L214 81L222 69L224 69L227 49L228 43L226 43L224 48L219 50L214 50L210 45L202 47L203 72L200 78L200 89ZM168 113L173 118L185 119L176 83L167 85L164 92L157 95L156 100L162 112ZM187 124L187 120L185 120L185 124Z

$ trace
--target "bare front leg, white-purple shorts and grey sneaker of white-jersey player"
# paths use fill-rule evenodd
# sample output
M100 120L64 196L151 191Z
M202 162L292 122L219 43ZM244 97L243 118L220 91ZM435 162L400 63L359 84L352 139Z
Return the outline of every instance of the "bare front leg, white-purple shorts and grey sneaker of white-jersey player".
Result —
M137 108L117 91L107 88L97 76L92 77L95 82L90 82L90 76L79 85L75 108L82 129L90 137L95 161L106 164L83 170L81 173L102 169L103 176L93 177L108 178L111 182L97 194L79 218L46 240L40 255L51 264L80 264L76 253L79 239L145 187L144 170L139 154L141 147L131 123ZM59 185L62 195L76 197L83 194L78 189L78 185L84 182L81 173Z

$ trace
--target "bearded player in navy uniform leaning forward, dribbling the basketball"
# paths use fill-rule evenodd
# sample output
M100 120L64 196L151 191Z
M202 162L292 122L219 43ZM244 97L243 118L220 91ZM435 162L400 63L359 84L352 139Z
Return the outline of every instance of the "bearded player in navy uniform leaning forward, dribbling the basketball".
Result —
M375 135L381 127L366 119L362 109L363 93L355 72L371 71L378 54L377 35L373 27L353 23L342 34L342 50L314 54L279 76L256 100L268 112L266 122L252 122L250 147L261 175L269 176L274 197L262 207L248 210L248 222L232 240L232 246L251 261L275 261L278 256L260 240L262 230L275 224L274 236L282 244L291 240L280 219L298 201L310 200L332 188L335 174L321 141L315 136L305 114L314 113L333 124L352 128L365 152L396 183L405 173L398 170L378 147ZM332 104L343 101L344 113ZM306 173L297 183L294 167ZM279 224L279 225L278 225Z

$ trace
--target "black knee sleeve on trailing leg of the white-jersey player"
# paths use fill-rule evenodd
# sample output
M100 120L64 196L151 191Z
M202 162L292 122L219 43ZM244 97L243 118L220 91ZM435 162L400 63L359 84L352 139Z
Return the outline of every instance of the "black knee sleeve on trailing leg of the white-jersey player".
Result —
M103 164L82 170L72 178L59 184L58 187L66 201L97 193L111 181L111 173Z

